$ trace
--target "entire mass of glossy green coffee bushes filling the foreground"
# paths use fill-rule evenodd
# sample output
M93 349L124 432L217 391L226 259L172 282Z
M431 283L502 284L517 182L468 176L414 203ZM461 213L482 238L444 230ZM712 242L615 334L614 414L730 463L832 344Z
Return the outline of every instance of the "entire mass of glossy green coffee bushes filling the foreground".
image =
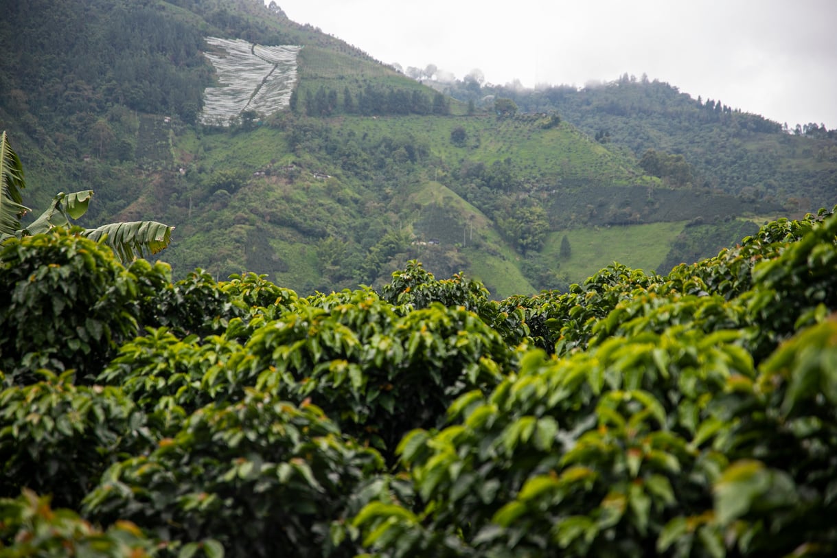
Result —
M834 555L835 242L496 302L9 239L0 555Z

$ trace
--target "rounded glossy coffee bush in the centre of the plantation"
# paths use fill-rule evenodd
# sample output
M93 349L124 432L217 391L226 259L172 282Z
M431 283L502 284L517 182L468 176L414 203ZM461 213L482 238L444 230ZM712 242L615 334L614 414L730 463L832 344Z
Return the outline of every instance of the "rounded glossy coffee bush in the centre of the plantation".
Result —
M256 330L237 381L310 397L345 432L388 456L413 427L434 427L460 393L490 389L511 363L501 336L462 308L434 303L399 317L377 295L300 307Z

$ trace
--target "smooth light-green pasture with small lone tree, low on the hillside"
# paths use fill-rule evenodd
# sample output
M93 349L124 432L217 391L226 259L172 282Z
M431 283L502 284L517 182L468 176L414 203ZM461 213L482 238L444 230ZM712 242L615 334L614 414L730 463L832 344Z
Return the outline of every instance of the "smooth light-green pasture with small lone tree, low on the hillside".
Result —
M656 270L665 259L686 221L621 227L585 227L554 231L547 236L541 256L570 282L580 282L614 262L646 272ZM572 255L562 259L561 239L567 235Z

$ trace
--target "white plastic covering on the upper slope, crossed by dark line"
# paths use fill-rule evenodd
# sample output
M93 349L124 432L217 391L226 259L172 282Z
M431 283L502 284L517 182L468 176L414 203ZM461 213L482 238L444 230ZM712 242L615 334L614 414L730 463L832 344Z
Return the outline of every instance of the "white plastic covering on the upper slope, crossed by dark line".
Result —
M264 116L289 105L296 83L296 55L302 47L264 47L218 37L206 41L223 54L205 53L218 72L221 86L203 92L203 124L226 126L244 110Z

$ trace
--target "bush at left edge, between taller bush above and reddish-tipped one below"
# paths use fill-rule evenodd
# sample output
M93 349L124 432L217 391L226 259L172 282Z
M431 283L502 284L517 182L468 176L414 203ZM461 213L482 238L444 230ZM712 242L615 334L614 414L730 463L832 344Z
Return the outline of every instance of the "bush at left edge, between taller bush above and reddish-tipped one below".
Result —
M23 488L78 506L111 463L151 444L146 417L118 387L74 386L71 372L0 392L0 496Z

